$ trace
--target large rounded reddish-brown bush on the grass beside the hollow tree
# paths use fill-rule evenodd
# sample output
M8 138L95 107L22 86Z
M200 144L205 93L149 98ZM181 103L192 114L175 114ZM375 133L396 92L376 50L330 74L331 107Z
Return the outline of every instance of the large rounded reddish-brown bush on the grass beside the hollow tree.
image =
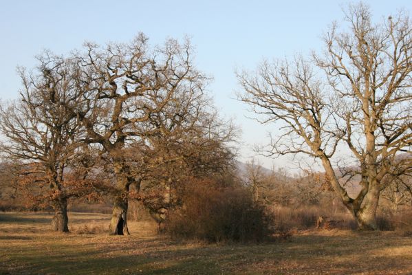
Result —
M211 180L188 186L184 205L170 212L165 231L177 239L265 241L274 233L274 218L241 187L219 188Z

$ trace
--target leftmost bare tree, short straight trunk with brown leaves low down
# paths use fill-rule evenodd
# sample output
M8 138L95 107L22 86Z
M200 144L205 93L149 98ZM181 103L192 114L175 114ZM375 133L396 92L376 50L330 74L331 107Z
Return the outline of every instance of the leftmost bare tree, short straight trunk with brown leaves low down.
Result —
M76 153L81 133L76 116L67 109L79 100L70 78L74 67L49 52L38 61L39 67L30 74L19 69L23 83L19 100L0 109L1 150L8 162L17 164L14 173L19 183L28 191L36 186L37 196L30 191L26 199L51 203L53 230L68 232L67 199L76 195L76 188L69 188L65 181L65 168Z

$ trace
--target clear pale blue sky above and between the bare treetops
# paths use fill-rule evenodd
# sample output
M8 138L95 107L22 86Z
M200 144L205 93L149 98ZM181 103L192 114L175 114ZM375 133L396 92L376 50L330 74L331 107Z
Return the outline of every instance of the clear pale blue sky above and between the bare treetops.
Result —
M410 0L364 1L376 19ZM16 67L34 67L34 56L44 49L66 54L84 41L131 41L144 32L151 44L167 37L190 36L197 67L213 76L210 93L222 115L241 126L241 159L254 155L253 144L265 142L267 131L248 120L246 106L235 100L239 85L234 71L254 69L263 58L283 58L320 50L320 36L343 17L348 1L7 1L0 2L0 97L17 98L20 80ZM271 166L271 159L261 159ZM287 159L274 161L289 166Z

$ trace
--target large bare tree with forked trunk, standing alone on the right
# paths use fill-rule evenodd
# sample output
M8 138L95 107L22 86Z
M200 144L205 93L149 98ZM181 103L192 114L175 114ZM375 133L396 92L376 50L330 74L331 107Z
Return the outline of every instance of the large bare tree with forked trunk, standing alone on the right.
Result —
M245 90L241 100L262 115L261 123L282 124L270 155L320 159L359 227L376 230L380 192L389 182L383 179L412 167L411 21L400 12L373 24L360 3L349 6L345 22L347 29L334 23L325 33L325 52L311 61L265 62L255 76L238 74ZM349 148L361 176L354 198L332 164L338 144Z

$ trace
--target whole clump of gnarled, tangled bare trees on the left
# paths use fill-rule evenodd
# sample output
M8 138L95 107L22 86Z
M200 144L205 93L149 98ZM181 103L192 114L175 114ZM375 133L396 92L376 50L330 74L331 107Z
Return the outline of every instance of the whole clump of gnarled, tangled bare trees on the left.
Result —
M210 106L192 52L189 41L150 47L140 34L66 57L45 52L32 72L21 69L19 100L0 110L3 156L21 189L54 208L54 230L68 231L70 197L109 193L110 233L129 234L129 199L164 219L182 177L230 164L236 131Z

